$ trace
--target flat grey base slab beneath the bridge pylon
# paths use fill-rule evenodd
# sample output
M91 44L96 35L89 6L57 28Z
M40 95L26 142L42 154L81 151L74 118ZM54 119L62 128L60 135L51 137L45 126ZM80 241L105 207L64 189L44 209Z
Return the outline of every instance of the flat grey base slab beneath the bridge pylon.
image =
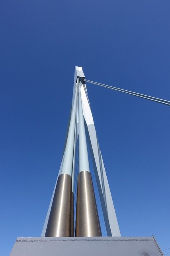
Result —
M10 256L163 256L151 237L17 238Z

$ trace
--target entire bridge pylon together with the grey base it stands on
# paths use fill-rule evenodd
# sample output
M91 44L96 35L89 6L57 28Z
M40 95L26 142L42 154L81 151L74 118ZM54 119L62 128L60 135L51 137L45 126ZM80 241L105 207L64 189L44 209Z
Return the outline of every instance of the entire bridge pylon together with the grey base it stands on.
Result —
M102 237L100 228L87 143L90 146L107 237ZM75 168L76 154L79 156L78 169ZM75 67L63 157L41 237L17 238L10 254L23 255L163 256L154 236L121 237L82 67Z

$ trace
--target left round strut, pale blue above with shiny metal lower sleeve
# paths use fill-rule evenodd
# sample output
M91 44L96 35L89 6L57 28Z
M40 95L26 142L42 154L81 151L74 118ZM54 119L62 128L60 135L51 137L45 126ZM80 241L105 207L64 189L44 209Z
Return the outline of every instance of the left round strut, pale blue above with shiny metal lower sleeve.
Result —
M74 159L74 137L76 125L77 91L70 118L68 135L63 156L61 174L58 177L53 203L47 222L45 237L61 237L72 235L71 199L72 199L72 167Z

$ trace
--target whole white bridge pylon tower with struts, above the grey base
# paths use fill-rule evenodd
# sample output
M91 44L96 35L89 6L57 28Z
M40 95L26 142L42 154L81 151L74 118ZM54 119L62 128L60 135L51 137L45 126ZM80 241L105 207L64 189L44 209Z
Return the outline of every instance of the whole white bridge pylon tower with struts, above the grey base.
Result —
M72 108L63 159L45 219L41 237L74 236L74 169L76 143L79 140L79 174L75 236L102 236L87 142L94 166L107 236L121 236L100 151L82 67L75 67Z

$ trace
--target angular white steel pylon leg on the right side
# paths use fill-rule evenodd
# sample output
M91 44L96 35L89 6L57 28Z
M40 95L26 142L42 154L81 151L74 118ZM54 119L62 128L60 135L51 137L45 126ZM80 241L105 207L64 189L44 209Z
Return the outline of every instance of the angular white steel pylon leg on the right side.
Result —
M104 214L104 221L106 224L107 236L121 236L107 180L106 170L104 167L104 162L102 159L102 154L100 151L98 138L96 135L96 129L94 126L94 120L90 109L90 102L88 99L85 82L83 82L81 86L81 97L84 119L86 121L87 131L89 135L89 144L94 166L94 173L96 176L96 182Z

